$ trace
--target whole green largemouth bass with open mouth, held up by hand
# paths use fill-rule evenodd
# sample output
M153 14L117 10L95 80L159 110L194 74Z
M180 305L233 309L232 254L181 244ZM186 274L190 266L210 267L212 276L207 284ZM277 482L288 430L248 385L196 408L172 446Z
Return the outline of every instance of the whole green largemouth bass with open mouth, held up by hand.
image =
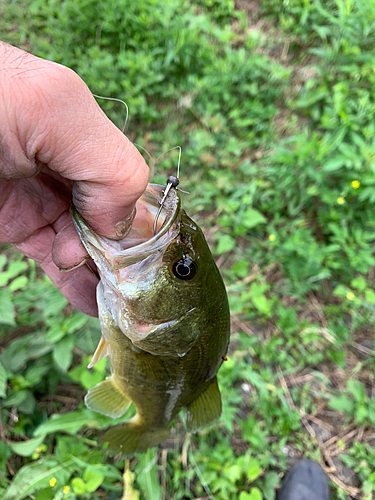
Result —
M96 234L74 206L78 235L100 281L102 337L89 365L108 355L111 376L88 391L86 406L118 418L99 444L133 456L159 445L185 408L189 432L215 423L222 411L217 372L230 337L227 293L200 227L171 189L149 184L136 204L130 232L120 241Z

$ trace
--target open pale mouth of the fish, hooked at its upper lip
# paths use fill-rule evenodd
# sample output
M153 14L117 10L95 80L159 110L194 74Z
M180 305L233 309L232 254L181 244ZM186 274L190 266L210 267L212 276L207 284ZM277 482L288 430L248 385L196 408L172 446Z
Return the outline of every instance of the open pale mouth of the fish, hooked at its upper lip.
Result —
M165 186L149 184L136 203L136 215L131 230L122 240L110 240L96 234L77 212L70 213L78 235L99 271L118 270L135 264L163 250L178 234L180 197L171 189L161 209L154 235L154 221L160 208Z

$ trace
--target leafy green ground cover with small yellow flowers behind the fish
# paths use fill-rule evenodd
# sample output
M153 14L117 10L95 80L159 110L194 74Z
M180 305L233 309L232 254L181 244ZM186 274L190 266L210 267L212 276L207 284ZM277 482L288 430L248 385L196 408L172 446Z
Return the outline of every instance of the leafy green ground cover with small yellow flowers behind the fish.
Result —
M183 203L227 284L223 416L198 436L178 420L160 449L126 463L132 498L274 500L282 473L308 456L334 500L371 500L375 6L136 5L8 0L0 19L5 41L124 99L128 135L153 157L182 146ZM100 104L122 124L122 108ZM153 181L175 166L172 154ZM0 285L0 496L118 500L124 462L95 445L114 421L82 402L106 373L86 369L96 320L10 248Z

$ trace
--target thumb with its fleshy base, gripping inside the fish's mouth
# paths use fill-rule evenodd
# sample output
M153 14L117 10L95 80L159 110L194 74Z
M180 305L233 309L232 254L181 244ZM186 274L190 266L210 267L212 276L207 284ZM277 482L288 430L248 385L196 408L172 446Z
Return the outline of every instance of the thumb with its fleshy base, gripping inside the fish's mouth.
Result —
M123 237L148 182L143 157L76 73L10 49L7 101L28 161L73 181L73 203L94 231Z

